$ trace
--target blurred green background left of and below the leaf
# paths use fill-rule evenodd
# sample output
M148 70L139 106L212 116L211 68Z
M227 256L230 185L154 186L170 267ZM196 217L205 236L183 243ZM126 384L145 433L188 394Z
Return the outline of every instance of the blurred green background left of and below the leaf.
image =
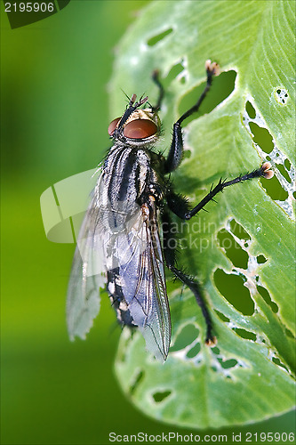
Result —
M39 205L45 189L93 168L108 148L116 43L147 3L72 0L15 29L1 3L3 444L191 433L144 417L120 392L113 374L120 328L107 295L87 341L69 342L65 295L74 246L46 239ZM210 433L289 432L292 424L291 413Z

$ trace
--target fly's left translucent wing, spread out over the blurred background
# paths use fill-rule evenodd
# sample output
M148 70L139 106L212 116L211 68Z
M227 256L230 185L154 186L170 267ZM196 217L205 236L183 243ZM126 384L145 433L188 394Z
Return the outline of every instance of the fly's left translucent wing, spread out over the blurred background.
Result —
M100 311L100 287L105 287L106 264L102 244L104 231L100 224L100 178L94 190L77 246L68 283L67 324L71 340L85 338L92 321Z

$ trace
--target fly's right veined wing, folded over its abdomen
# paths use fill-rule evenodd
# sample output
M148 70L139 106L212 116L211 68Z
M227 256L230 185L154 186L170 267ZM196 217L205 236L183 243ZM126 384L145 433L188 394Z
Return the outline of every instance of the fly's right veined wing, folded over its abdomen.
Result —
M142 206L132 227L117 237L123 255L118 281L132 320L142 332L148 351L157 360L167 357L171 341L171 318L164 277L164 260L156 210Z

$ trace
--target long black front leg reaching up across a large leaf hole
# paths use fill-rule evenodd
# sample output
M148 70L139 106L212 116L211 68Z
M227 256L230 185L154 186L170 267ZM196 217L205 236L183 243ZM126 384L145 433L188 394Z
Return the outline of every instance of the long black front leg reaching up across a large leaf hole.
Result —
M206 61L205 69L206 69L207 81L203 93L199 97L198 101L196 101L196 104L190 109L188 109L188 111L186 111L181 117L179 117L177 122L175 122L174 125L172 126L171 148L164 165L164 170L166 174L171 173L173 170L175 170L180 165L180 161L182 160L183 137L182 137L181 124L183 120L191 116L193 113L196 113L196 111L199 109L201 103L204 101L206 93L208 93L208 91L211 88L212 77L218 74L219 67L215 62L211 63L211 61Z

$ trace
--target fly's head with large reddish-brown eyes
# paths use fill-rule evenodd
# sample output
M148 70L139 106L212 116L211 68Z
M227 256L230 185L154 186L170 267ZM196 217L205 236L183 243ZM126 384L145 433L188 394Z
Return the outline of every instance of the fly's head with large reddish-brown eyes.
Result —
M136 102L136 94L132 94L128 108L122 117L117 117L108 126L108 134L115 142L129 145L148 145L156 142L160 133L160 120L155 109L140 109L148 101L148 97Z

